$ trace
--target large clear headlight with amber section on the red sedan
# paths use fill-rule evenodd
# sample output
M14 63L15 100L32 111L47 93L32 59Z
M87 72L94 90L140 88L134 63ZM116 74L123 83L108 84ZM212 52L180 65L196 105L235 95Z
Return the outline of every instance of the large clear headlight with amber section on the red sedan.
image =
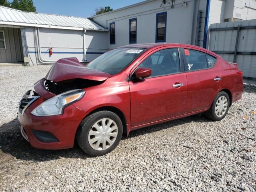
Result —
M85 94L84 90L67 91L42 102L31 113L35 116L51 116L63 114L66 106L80 100Z

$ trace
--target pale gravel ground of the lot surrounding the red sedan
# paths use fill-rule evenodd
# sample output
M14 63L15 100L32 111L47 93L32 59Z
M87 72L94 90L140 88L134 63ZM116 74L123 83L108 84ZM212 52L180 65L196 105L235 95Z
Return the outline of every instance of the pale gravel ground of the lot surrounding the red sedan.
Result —
M110 154L38 150L18 101L50 66L0 68L0 191L256 191L256 86L226 118L191 116L131 132Z

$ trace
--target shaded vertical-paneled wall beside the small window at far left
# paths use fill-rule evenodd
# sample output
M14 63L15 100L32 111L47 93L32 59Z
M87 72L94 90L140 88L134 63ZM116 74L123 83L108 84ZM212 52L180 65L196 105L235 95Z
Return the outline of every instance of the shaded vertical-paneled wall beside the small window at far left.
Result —
M23 61L21 34L19 28L0 27L4 31L5 50L0 50L0 62L15 63Z

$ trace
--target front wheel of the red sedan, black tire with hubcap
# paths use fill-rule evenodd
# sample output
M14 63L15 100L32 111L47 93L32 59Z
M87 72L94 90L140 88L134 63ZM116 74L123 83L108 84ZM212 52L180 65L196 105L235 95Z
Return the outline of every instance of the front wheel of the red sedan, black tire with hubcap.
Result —
M122 138L122 132L122 121L117 114L98 111L82 120L76 140L87 154L102 156L116 148Z

